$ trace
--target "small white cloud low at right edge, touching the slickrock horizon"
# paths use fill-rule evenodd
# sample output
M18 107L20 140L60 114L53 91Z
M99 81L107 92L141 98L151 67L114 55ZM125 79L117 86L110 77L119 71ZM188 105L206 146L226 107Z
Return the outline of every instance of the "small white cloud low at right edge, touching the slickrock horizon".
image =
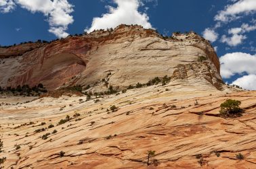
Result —
M238 85L247 90L256 90L256 75L244 75L233 81L232 84Z

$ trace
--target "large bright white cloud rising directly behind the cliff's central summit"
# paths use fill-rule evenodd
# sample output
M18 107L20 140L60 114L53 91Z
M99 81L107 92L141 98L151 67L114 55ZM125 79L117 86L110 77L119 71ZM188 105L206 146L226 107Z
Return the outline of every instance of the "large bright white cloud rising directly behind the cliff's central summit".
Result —
M93 18L91 28L85 29L86 32L93 30L115 28L119 24L138 24L144 28L152 28L146 13L138 11L141 0L113 0L117 7L108 6L108 13L102 15L101 18Z

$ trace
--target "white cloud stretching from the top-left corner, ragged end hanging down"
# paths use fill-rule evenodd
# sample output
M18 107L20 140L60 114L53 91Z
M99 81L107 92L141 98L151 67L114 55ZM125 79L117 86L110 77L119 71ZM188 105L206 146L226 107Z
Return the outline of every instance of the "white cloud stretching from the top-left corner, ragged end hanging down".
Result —
M32 13L43 13L49 22L49 32L58 38L68 36L66 30L74 20L70 15L73 6L67 0L0 0L0 11L7 13L12 11L16 5L20 5Z

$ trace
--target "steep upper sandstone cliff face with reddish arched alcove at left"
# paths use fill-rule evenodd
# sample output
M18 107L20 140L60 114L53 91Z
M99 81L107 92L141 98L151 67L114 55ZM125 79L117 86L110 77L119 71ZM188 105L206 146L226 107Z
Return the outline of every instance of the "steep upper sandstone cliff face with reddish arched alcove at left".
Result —
M193 32L163 38L154 30L121 25L111 31L30 46L33 50L28 52L24 44L0 48L0 86L43 83L48 90L55 90L90 85L102 91L107 88L102 79L123 88L168 75L174 81L221 88L217 55L207 40ZM15 55L14 49L21 56L10 57ZM198 61L200 56L207 60Z

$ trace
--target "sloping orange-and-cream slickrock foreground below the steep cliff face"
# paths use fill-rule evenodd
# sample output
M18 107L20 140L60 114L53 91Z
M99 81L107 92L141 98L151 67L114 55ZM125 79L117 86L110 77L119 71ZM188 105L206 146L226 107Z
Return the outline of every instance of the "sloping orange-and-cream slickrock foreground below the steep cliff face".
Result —
M241 117L218 116L219 105L227 98L242 102ZM0 107L5 168L256 167L256 92L221 92L181 81L127 90L96 103L85 99L63 96L16 104L26 100L1 98L13 104ZM107 112L112 105L118 110ZM74 118L75 113L81 116ZM57 125L66 115L72 119ZM35 124L22 125L30 122ZM54 127L35 133L51 124ZM53 134L54 130L58 132ZM51 134L41 139L46 133ZM150 166L148 150L156 151ZM236 159L239 153L244 160ZM154 159L158 166L152 164Z

